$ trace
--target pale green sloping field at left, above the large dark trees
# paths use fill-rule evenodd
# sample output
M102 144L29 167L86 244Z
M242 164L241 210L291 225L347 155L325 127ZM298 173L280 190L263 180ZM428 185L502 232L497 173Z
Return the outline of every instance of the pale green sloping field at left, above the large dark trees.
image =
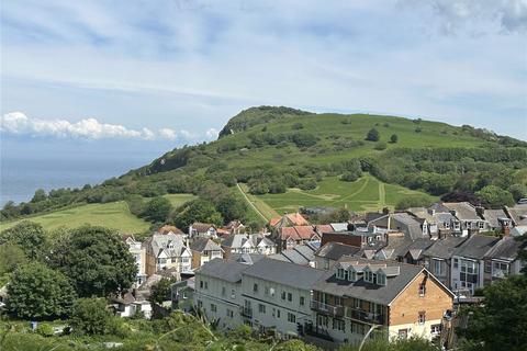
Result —
M148 230L150 226L147 222L131 214L124 201L81 205L27 219L40 223L47 230L59 227L75 228L83 224L90 224L117 229L122 233L143 233ZM0 229L12 227L18 222L2 223Z

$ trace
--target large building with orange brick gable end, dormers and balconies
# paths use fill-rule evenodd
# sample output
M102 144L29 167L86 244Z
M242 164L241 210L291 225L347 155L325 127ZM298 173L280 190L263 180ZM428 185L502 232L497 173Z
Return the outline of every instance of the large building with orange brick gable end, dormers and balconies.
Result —
M350 344L370 329L389 339L431 339L452 303L453 294L423 267L346 257L313 285L306 332Z

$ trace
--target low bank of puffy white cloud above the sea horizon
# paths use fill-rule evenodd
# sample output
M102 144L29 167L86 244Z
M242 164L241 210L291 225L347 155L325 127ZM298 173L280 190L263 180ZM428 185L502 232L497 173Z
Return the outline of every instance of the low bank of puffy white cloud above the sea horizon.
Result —
M85 118L72 123L67 120L32 118L22 112L10 112L0 116L0 132L38 137L198 141L212 139L214 133L211 131L215 129L209 129L203 135L191 134L184 129L178 133L171 128L160 128L154 132L144 127L136 131L119 124L101 123L96 118Z

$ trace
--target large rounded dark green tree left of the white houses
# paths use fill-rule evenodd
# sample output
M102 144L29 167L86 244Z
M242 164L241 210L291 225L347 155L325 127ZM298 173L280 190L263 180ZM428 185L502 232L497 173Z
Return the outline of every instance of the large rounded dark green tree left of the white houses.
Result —
M75 284L80 297L108 296L132 286L137 267L128 247L113 230L83 226L56 242L49 264Z

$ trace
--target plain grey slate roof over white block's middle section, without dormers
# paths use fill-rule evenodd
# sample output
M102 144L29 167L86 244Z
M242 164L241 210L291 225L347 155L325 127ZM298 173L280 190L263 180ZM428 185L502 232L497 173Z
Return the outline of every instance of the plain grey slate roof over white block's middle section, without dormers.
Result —
M292 287L311 290L313 284L323 276L324 271L265 258L249 265L243 274Z

